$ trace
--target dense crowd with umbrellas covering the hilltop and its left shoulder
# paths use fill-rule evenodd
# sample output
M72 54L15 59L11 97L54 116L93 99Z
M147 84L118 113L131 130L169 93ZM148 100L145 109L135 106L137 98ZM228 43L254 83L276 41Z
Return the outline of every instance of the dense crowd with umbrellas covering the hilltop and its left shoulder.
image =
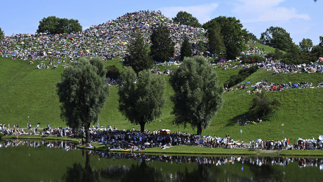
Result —
M12 57L12 59L30 60L29 64L37 60L54 58L57 63L61 63L60 65L65 64L64 67L67 66L67 61L70 63L78 57L101 57L104 60L122 59L126 56L133 29L139 28L145 35L145 44L151 44L149 35L156 25L165 25L170 30L170 36L175 44L175 52L171 61L178 60L184 36L188 35L195 54L200 53L198 44L207 41L204 38L203 28L175 25L160 11L139 11L127 13L115 20L91 26L74 34L39 33L5 36L3 40L0 40L0 55ZM44 68L48 68L47 66L45 64ZM40 64L40 67L43 65Z

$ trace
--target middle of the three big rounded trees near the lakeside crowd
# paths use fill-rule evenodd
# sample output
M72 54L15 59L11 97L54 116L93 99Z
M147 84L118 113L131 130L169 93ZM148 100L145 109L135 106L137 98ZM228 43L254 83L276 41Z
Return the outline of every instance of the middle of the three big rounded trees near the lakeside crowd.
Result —
M165 104L165 80L143 70L137 74L130 66L125 66L120 74L122 86L119 87L119 111L144 132L145 124L159 117Z

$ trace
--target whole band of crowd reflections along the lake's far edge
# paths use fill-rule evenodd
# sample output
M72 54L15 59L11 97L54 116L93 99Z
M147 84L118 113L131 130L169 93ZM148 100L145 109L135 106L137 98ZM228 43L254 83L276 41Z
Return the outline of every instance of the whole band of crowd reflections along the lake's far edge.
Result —
M0 142L0 147L46 147L46 148L62 148L63 150L77 149L77 143L66 141L20 141L20 140L4 140ZM84 154L84 151L82 151ZM323 170L323 158L294 158L294 157L269 157L269 156L171 156L171 155L147 155L140 153L118 153L118 152L101 152L86 151L87 154L98 155L99 158L107 159L129 159L138 162L167 162L167 163L194 163L197 165L225 165L240 162L242 164L251 164L256 166L263 165L279 165L288 166L290 162L297 162L299 167L319 167Z

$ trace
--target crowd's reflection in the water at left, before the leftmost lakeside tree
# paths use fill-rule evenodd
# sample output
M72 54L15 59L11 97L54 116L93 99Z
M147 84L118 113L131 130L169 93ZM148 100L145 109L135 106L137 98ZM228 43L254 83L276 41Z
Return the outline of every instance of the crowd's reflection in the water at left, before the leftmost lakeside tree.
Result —
M0 142L0 147L17 147L27 145L27 147L46 147L46 148L62 148L68 151L76 149L77 143L66 141L21 141L21 140L4 140Z

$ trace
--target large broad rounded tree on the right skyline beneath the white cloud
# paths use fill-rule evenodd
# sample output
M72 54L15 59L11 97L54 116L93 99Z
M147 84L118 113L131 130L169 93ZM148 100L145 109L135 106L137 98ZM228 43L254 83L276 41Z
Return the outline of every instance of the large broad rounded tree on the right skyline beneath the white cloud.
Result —
M266 45L287 51L293 46L290 34L282 27L271 26L261 33L260 40L265 41Z

